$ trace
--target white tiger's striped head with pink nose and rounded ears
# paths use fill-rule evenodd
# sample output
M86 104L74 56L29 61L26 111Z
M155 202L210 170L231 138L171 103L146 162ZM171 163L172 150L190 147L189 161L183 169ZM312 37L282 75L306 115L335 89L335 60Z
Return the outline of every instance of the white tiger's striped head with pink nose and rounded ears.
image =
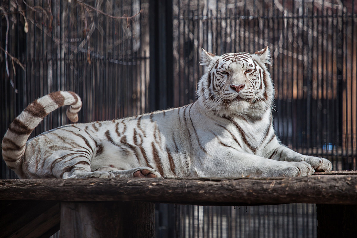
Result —
M213 55L202 49L206 72L198 82L198 101L219 116L260 117L270 110L274 89L266 64L271 65L268 47L255 54Z

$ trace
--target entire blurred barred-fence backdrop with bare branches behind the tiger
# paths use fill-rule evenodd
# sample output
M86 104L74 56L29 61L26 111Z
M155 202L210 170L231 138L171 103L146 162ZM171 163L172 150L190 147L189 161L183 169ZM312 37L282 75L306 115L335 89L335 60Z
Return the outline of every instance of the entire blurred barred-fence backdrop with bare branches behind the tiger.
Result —
M281 142L356 170L356 0L1 0L0 17L2 136L57 90L80 95L79 122L186 105L202 48L269 46ZM66 123L60 108L31 137ZM0 176L16 178L2 160ZM315 204L156 204L157 237L317 237L316 225Z

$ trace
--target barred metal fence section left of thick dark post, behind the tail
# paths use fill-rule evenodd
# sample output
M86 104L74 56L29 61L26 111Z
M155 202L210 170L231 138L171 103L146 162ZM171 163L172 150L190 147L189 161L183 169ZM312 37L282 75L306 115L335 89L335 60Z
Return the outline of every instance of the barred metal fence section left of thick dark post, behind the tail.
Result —
M147 111L148 1L9 0L1 11L1 135L31 101L57 90L83 99L79 122ZM31 136L69 123L64 110ZM1 175L14 178L3 162Z

